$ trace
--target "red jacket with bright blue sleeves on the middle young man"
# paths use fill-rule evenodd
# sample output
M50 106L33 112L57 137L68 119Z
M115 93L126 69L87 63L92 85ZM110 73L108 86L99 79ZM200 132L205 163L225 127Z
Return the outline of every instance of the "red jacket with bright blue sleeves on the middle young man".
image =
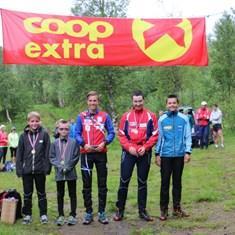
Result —
M107 132L107 135L106 135ZM81 152L85 153L83 148L85 144L97 146L102 142L109 144L113 141L115 132L110 116L106 112L97 110L96 113L84 111L78 115L76 123L76 140L82 146ZM102 152L106 152L104 147Z

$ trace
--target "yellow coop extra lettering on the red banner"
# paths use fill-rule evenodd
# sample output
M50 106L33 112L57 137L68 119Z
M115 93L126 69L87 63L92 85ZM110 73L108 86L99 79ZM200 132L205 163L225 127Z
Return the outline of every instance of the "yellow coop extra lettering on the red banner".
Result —
M110 23L99 20L87 23L81 19L65 22L57 18L29 17L23 23L25 30L32 34L63 35L64 37L67 35L85 41L71 42L69 38L63 38L61 43L31 41L25 45L25 54L30 58L79 59L85 52L90 59L103 59L105 47L103 43L99 43L99 40L110 37L114 30Z

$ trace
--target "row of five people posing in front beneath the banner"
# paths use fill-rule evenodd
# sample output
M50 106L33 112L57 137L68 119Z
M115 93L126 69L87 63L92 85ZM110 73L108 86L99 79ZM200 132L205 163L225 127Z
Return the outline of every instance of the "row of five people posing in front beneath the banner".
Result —
M190 161L191 129L186 115L178 112L179 100L176 95L166 99L165 112L158 120L156 115L144 106L141 91L132 94L132 108L120 119L117 132L122 147L120 162L120 182L117 190L114 221L124 218L128 186L133 169L137 167L138 212L145 221L152 221L147 211L147 181L151 165L152 148L155 147L155 163L160 167L160 220L168 217L170 179L173 180L173 215L186 217L181 208L182 174L184 164ZM51 144L48 133L41 126L38 112L30 112L27 126L19 139L16 155L16 174L22 177L24 205L23 224L32 222L32 194L34 184L38 195L41 223L47 223L46 175L51 166L55 168L57 188L57 225L77 223L76 165L80 159L83 181L85 214L83 224L93 221L92 171L97 171L98 181L98 221L108 224L105 213L107 202L107 146L113 141L115 131L108 113L99 109L99 94L87 94L87 110L77 117L74 136L69 136L70 124L66 120L58 122L58 138ZM67 182L67 183L66 183ZM65 219L64 194L68 185L70 214Z

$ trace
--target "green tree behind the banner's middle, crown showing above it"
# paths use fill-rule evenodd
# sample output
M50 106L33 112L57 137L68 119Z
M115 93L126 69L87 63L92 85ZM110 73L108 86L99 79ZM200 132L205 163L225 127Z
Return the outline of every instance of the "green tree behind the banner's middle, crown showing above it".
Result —
M77 0L72 8L76 16L125 17L128 0ZM120 95L120 84L128 70L123 67L73 67L68 71L73 88L70 94L84 93L95 89L102 93L103 107L117 120L116 97ZM75 76L74 76L75 75ZM79 81L77 81L80 79ZM75 89L74 89L75 88ZM83 98L84 99L84 98Z

